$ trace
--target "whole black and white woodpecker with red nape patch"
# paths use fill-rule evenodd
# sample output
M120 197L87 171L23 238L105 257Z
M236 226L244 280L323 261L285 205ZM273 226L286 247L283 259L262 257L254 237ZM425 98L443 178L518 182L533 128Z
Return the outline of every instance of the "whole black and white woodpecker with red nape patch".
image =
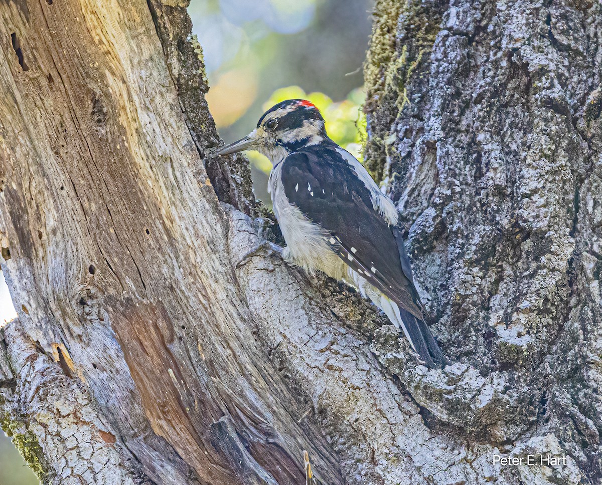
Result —
M445 365L422 313L393 202L368 171L326 135L315 105L291 99L218 152L257 150L272 161L268 192L287 242L282 255L370 298L429 367Z

